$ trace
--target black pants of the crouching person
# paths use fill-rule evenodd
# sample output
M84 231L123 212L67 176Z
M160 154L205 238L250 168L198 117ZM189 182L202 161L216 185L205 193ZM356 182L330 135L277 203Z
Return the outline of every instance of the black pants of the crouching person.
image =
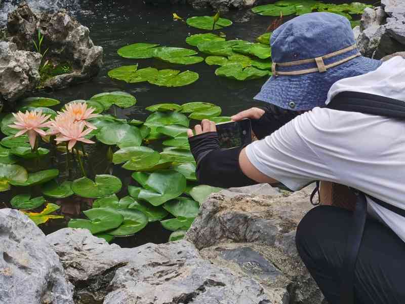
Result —
M350 211L318 206L304 216L297 228L298 252L329 304L339 303L340 272L350 221ZM366 221L354 293L356 304L405 303L405 243L372 219Z

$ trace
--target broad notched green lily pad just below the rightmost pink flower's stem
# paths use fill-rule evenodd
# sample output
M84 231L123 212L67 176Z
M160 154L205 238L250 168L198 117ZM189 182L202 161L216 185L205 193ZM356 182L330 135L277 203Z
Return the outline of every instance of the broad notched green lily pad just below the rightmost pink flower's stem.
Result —
M95 181L87 177L78 178L72 183L73 192L83 198L101 198L117 193L123 184L113 175L96 175Z

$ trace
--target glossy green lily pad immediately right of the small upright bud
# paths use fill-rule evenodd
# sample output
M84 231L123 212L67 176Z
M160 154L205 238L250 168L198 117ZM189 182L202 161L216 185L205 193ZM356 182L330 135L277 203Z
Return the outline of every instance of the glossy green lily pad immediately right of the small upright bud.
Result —
M119 149L112 155L114 164L122 164L127 170L145 170L156 165L160 160L160 154L148 147L126 147Z

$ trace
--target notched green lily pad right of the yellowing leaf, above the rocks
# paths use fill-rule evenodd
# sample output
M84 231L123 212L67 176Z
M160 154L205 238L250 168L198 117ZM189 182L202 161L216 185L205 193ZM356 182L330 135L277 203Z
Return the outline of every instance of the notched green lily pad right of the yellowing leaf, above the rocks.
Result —
M84 228L92 234L115 229L124 221L124 216L109 208L93 208L83 211L89 219L73 218L67 226L69 228Z

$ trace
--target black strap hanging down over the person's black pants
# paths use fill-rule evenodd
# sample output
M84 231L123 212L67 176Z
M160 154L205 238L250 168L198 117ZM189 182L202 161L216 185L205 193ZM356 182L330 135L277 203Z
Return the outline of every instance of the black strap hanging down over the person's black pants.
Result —
M357 196L351 229L347 235L345 256L343 258L340 286L340 304L354 303L354 272L360 249L364 226L367 218L367 201L363 193L354 191Z

